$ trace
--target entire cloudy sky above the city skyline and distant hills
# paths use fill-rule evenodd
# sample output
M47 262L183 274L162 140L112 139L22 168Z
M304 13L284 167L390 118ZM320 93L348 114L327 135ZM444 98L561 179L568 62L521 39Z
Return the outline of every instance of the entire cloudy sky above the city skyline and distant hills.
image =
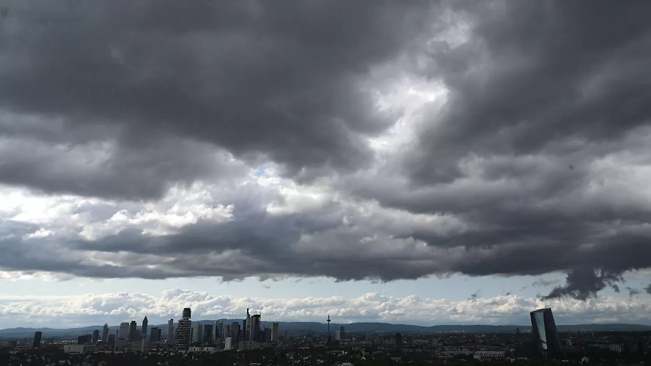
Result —
M0 328L651 324L648 1L0 7Z

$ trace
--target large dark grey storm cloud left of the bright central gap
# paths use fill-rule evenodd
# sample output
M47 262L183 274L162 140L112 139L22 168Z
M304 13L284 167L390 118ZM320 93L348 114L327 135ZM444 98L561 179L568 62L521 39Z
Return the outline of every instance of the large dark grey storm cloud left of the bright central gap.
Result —
M304 167L354 169L371 156L363 137L395 118L376 111L361 83L422 28L424 12L415 5L11 3L12 15L1 24L0 108L13 115L3 117L0 134L67 145L111 138L124 155L143 158L112 156L106 175L122 178L92 180L44 172L51 161L16 148L23 158L9 154L0 181L148 198L167 182L206 175L210 163L201 160L209 152L159 147L161 138L201 141L247 159L263 154L292 174ZM23 114L42 122L23 125ZM52 119L61 124L59 134L51 133ZM113 135L102 133L108 127ZM176 162L160 156L173 152Z

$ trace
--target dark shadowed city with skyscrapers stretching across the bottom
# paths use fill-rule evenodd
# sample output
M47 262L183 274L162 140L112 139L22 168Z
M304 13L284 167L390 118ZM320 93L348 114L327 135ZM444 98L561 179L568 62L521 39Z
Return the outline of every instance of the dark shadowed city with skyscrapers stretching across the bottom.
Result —
M33 339L0 343L2 365L120 365L135 359L158 365L218 363L230 365L406 365L482 362L484 364L549 364L570 360L583 365L639 364L648 359L651 331L557 330L552 309L531 311L531 329L512 333L387 333L346 331L345 324L326 332L281 332L279 322L264 326L262 314L249 309L241 321L193 322L192 310L169 319L166 326L122 322L115 332L109 324L77 339L55 339L36 331ZM1 360L2 358L0 358ZM41 361L35 361L40 359ZM91 363L89 360L93 360ZM253 362L252 360L255 360ZM48 363L49 362L49 363ZM77 363L75 363L77 362ZM534 362L534 363L531 363Z

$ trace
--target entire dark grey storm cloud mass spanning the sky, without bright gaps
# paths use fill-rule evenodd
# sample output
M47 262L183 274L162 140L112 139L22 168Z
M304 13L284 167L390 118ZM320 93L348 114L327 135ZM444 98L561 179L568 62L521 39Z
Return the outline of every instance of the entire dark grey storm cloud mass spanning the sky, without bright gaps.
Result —
M273 199L243 191L219 200L234 205L229 220L176 234L134 225L98 240L5 238L1 247L35 253L0 257L3 268L381 281L567 272L545 298L585 300L651 267L651 208L635 173L651 163L648 2L453 2L471 29L460 46L420 42L423 20L440 15L429 3L21 4L0 48L0 106L12 118L0 123L10 157L0 181L157 197L171 182L236 175L231 152L301 178L326 168L342 199L402 211L331 202L269 214ZM365 170L374 156L364 138L396 117L362 87L386 63L441 80L447 101L424 107L415 140ZM102 155L94 146L105 140ZM66 162L93 154L94 165ZM101 211L89 216L109 216Z

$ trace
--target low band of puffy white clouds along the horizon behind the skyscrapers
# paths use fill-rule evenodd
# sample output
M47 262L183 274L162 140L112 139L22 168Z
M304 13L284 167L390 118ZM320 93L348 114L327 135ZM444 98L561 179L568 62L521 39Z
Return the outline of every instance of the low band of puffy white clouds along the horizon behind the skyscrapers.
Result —
M7 327L50 328L91 326L148 317L150 324L178 318L184 307L192 308L195 320L242 318L247 306L259 310L264 321L323 322L327 314L335 322L391 322L395 324L529 324L529 311L542 307L534 298L495 296L453 302L445 299L407 296L396 298L378 292L357 298L234 298L190 290L165 290L161 296L133 293L86 294L79 296L0 296L0 319ZM558 324L623 322L649 324L643 300L553 300Z

